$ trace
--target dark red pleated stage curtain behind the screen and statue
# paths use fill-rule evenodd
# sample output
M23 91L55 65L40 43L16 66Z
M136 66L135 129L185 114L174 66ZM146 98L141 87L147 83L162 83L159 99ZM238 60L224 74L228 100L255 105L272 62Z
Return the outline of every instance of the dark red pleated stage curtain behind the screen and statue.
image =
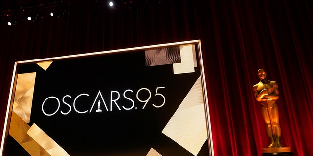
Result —
M259 68L279 84L282 143L313 156L312 0L65 2L64 17L11 27L1 19L1 134L15 61L201 39L215 156L257 156L268 146L252 93Z

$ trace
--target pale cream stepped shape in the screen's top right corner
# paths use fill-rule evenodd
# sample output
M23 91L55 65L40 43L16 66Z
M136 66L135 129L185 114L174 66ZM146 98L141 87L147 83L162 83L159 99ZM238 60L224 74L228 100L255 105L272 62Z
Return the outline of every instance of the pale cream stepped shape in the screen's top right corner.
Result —
M194 45L180 47L180 63L173 64L174 74L193 73L197 66L196 52Z

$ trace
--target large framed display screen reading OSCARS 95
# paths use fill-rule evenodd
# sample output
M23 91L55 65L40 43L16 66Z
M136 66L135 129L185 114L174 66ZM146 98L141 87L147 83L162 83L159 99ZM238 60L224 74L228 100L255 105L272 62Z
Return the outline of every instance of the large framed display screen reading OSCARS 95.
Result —
M200 41L15 63L3 156L212 156Z

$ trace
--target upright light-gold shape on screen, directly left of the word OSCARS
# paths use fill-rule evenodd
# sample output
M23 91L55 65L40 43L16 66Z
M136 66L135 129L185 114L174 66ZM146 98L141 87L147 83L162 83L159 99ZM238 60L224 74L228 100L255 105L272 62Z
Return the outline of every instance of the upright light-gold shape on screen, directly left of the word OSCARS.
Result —
M30 122L35 78L36 72L18 74L16 82L13 112L21 117L26 123Z

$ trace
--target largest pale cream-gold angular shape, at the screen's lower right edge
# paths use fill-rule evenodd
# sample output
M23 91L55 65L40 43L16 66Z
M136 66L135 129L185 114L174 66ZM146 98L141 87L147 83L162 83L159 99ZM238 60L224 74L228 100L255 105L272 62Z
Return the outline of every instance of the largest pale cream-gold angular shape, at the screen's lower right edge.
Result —
M201 78L199 77L162 131L163 134L195 156L207 140L203 104Z

